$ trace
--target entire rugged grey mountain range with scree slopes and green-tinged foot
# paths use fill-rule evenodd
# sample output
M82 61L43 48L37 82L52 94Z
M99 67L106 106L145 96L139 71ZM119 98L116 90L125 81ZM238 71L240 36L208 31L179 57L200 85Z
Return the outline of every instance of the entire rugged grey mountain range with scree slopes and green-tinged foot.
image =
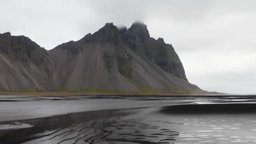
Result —
M0 34L0 91L199 93L164 39L135 22L106 23L94 34L45 50L24 36Z

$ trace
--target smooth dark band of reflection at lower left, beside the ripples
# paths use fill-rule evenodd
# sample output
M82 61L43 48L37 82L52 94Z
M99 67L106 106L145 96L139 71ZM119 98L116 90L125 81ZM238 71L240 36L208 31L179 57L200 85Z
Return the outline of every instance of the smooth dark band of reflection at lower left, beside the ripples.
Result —
M6 122L4 124L30 124L34 127L24 129L8 129L0 130L0 143L22 143L43 137L55 136L57 132L66 131L74 128L83 128L84 125L95 121L94 119L105 119L108 117L115 117L126 115L127 113L119 113L118 111L91 111L91 112L78 112L70 113L67 115L51 116L45 118L28 119L19 122ZM19 126L19 124L17 125ZM94 124L92 123L91 127ZM69 133L72 133L69 131ZM32 142L33 143L33 142Z

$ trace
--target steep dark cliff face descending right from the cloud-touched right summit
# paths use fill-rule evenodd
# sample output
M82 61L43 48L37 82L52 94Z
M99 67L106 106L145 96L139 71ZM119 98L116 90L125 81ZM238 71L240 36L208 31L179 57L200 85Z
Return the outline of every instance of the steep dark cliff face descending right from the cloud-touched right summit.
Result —
M147 25L135 22L124 34L124 41L131 49L174 76L186 81L185 70L172 45L165 44L164 39L150 38Z

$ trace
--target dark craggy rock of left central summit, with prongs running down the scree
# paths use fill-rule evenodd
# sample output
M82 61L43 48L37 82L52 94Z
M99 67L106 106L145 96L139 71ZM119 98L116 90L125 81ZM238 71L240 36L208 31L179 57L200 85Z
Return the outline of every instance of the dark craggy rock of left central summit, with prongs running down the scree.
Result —
M98 32L88 37L89 41L100 43L102 47L112 46L112 50L106 50L103 53L103 60L106 64L106 68L110 71L110 68L114 65L114 58L117 61L119 73L125 77L131 77L132 57L125 50L122 37L126 32L126 28L119 29L113 25L113 23L106 23ZM123 34L121 34L123 33ZM110 49L111 49L110 48ZM108 48L107 48L108 49Z

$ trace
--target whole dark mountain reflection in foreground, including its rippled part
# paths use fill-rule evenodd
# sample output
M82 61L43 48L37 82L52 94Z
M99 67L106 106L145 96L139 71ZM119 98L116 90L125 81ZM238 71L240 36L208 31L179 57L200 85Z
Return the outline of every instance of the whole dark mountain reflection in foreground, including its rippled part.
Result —
M32 128L5 130L1 143L166 143L174 142L177 131L164 129L145 118L124 116L118 111L80 112L31 119ZM124 116L124 117L121 117Z

